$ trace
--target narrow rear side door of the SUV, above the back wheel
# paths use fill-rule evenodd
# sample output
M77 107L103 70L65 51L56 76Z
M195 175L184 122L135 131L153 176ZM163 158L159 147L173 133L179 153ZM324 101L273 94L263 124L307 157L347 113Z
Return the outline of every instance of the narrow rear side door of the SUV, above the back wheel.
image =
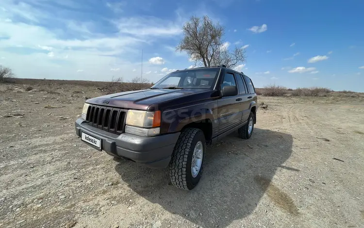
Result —
M250 99L249 97L250 94L248 92L248 87L247 84L245 83L245 80L243 79L243 76L235 73L235 77L236 77L236 81L238 82L238 87L239 87L239 99L240 100L240 104L239 104L239 109L242 113L242 121L246 121L248 120L249 114L250 114Z

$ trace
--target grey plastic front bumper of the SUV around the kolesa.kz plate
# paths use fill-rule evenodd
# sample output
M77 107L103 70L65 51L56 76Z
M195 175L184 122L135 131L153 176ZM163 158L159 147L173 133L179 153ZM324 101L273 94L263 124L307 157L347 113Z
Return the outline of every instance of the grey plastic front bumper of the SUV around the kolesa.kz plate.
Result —
M95 128L81 118L76 120L75 129L76 134L80 137L84 132L100 139L101 149L108 154L132 160L151 168L165 168L168 166L173 148L180 136L180 132L153 137L143 137L130 133L117 135ZM94 147L91 144L86 144Z

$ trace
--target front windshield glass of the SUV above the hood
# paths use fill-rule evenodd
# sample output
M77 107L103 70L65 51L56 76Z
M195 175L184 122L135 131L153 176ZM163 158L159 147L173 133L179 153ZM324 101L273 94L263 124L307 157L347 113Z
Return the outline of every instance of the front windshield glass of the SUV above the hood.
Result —
M217 79L219 68L175 71L155 83L152 88L210 89Z

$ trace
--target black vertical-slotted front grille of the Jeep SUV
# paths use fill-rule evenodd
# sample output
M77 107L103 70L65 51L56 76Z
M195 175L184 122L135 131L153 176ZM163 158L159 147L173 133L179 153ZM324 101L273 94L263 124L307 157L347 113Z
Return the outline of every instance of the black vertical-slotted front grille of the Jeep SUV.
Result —
M115 134L121 134L125 128L126 110L89 105L86 121L89 125Z

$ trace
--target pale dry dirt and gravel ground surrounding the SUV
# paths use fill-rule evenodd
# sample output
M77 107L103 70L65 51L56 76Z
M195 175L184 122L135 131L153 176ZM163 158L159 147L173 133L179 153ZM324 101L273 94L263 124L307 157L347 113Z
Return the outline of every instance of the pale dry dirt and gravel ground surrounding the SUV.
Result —
M355 98L259 97L253 136L208 147L186 192L167 170L81 142L74 121L94 87L25 87L0 85L0 228L364 227Z

